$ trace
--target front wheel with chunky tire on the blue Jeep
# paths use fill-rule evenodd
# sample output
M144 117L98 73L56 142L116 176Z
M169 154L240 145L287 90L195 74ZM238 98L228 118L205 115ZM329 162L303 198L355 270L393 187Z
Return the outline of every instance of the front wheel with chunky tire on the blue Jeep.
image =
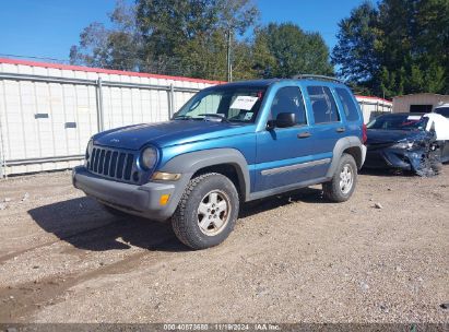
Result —
M233 232L239 199L234 183L216 173L190 180L172 216L177 238L191 249L205 249L223 242Z

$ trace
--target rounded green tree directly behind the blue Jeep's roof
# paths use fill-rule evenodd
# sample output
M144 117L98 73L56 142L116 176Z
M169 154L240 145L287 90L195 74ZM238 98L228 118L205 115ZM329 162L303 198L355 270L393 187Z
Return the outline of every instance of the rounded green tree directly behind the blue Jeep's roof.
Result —
M256 33L253 68L264 78L292 78L300 73L332 74L329 49L317 33L305 33L293 23L270 23Z

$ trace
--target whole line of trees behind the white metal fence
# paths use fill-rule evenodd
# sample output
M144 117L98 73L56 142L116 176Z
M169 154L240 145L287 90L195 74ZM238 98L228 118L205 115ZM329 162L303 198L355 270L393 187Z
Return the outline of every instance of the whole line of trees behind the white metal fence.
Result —
M449 0L369 1L339 23L330 51L294 23L260 24L253 0L118 1L70 49L73 64L226 80L336 74L356 92L449 92Z

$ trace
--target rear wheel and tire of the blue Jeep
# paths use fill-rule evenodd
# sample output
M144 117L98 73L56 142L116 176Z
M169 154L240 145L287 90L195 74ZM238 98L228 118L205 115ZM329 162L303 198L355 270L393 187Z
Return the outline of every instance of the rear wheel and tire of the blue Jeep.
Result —
M322 190L328 200L340 203L351 198L356 183L357 165L352 155L343 153L332 179L322 183Z

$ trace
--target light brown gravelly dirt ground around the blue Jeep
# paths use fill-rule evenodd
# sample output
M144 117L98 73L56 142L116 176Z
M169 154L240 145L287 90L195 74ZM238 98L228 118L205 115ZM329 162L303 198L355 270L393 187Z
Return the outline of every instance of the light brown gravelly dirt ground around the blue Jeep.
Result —
M376 208L380 203L380 208ZM449 166L246 204L223 245L109 215L70 173L0 181L0 322L449 322Z

